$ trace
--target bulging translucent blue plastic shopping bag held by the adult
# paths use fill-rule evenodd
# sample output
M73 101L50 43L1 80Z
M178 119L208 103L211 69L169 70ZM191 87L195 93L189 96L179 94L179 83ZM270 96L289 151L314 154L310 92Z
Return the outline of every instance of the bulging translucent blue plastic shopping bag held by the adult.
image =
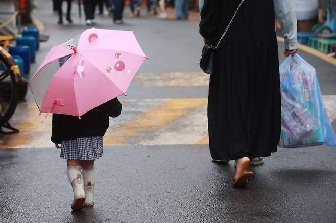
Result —
M326 144L336 135L323 104L316 70L298 54L280 65L281 147Z

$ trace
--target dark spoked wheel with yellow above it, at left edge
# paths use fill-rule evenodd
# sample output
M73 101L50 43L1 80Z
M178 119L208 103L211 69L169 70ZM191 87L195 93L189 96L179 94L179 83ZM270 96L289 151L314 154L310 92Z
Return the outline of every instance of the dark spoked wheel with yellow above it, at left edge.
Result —
M9 121L17 105L15 65L10 54L0 47L0 126Z

